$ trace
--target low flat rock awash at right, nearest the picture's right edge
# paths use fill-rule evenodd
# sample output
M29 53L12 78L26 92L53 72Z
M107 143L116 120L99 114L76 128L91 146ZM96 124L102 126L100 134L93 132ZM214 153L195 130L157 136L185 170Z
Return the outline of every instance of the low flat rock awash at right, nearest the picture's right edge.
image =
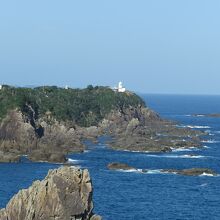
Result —
M191 169L184 169L184 170L176 170L176 169L164 169L161 172L164 173L176 173L180 175L186 175L186 176L200 176L200 175L213 175L216 176L217 173L211 169L207 168L191 168Z

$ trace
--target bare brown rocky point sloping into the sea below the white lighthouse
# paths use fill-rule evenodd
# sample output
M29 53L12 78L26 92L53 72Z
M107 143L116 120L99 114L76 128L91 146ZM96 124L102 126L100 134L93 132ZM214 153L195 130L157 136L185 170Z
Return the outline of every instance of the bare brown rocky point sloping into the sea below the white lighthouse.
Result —
M170 152L177 148L199 147L204 133L177 127L151 109L139 106L113 111L100 124L113 139L113 149L140 152Z

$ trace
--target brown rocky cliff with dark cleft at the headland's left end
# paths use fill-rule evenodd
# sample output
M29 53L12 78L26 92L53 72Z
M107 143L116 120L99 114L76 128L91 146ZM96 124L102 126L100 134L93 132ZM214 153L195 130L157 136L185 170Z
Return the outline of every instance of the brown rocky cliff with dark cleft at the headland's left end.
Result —
M0 162L18 162L20 155L28 155L32 161L64 163L65 154L83 152L81 138L70 124L34 121L18 110L10 111L0 124Z

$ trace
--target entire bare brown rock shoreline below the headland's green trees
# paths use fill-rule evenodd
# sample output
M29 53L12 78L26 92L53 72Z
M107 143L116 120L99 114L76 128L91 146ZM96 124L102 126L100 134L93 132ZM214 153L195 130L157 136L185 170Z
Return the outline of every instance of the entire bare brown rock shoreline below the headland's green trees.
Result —
M41 137L21 112L7 115L0 126L0 162L19 162L20 155L27 155L33 162L65 163L67 154L85 150L84 140L95 142L102 135L112 137L112 149L139 152L201 147L199 136L205 135L178 128L144 107L112 111L98 126L88 128L46 119L35 123L43 129Z

